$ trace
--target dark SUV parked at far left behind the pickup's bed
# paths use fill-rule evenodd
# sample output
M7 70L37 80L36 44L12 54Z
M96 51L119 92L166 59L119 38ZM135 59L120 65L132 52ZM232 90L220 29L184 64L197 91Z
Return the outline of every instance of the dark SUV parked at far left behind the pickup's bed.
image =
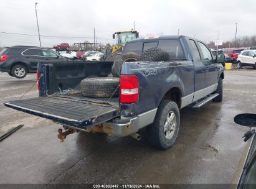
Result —
M36 73L37 63L44 60L65 60L52 50L32 47L13 46L0 52L0 71L16 78L24 78L27 73Z

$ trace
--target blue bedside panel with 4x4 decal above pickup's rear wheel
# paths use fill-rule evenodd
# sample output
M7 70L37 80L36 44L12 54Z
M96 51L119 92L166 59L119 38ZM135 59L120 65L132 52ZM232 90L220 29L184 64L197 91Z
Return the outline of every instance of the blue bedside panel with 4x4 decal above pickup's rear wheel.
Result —
M131 109L135 115L157 108L171 88L179 88L182 96L194 92L194 65L191 61L126 62L121 74L138 76L138 102L120 104L121 110Z

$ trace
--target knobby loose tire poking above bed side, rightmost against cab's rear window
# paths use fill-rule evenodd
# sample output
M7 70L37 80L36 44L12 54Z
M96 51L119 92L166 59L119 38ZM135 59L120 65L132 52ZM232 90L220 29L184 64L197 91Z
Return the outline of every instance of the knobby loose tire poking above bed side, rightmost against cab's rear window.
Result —
M152 62L168 62L170 59L169 54L161 48L152 47L145 50L141 56L141 61L152 61Z

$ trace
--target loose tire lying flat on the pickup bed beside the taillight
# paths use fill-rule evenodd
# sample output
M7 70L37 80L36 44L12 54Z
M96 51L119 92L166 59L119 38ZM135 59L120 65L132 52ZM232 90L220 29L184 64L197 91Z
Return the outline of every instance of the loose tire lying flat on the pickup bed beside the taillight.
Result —
M83 96L95 98L117 97L119 95L119 78L85 78L80 83ZM112 95L113 94L113 95Z

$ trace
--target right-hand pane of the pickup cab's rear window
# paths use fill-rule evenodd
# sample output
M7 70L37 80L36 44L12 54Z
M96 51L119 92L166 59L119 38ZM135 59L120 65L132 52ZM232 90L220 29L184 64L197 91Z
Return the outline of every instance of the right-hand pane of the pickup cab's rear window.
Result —
M158 47L168 52L170 60L185 59L181 43L176 39L160 39Z

